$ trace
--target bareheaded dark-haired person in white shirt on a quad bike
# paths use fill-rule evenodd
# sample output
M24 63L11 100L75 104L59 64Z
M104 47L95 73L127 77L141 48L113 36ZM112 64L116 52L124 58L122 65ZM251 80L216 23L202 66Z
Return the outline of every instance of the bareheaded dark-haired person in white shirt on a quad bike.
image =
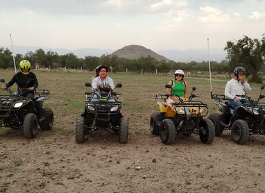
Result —
M104 65L101 65L98 68L98 77L95 77L92 81L92 88L98 92L100 85L108 85L112 90L114 90L114 81L112 78L107 77L108 68Z

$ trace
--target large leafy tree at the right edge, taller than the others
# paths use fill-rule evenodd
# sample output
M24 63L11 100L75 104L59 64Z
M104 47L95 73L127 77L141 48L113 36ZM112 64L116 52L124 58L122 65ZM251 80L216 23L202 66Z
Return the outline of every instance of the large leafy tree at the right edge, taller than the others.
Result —
M264 35L263 35L264 36ZM242 66L246 69L246 75L252 74L253 81L257 82L260 68L264 64L265 40L251 39L244 35L243 39L235 42L227 41L224 50L227 51L226 59L232 69Z

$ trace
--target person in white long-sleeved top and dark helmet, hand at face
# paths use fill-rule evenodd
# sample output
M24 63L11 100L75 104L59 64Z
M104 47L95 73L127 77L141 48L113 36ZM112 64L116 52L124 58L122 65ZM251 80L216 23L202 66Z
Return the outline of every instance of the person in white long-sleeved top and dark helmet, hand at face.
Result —
M226 83L224 95L229 98L229 106L234 109L233 116L236 113L237 107L244 103L249 103L248 99L244 99L245 91L252 90L251 85L246 82L246 70L238 66L234 70L235 77Z

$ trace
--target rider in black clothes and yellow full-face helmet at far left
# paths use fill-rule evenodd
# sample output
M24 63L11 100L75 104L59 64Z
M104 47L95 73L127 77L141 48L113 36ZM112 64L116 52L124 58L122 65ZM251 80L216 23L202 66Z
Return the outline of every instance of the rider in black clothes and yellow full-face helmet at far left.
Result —
M17 90L19 94L21 93L21 89L27 87L27 91L22 93L21 96L34 99L34 90L38 87L38 79L36 79L36 75L33 72L30 72L31 64L29 61L23 60L19 63L19 67L20 72L14 74L11 81L6 83L6 85L3 85L1 89L9 88L14 83L17 83Z

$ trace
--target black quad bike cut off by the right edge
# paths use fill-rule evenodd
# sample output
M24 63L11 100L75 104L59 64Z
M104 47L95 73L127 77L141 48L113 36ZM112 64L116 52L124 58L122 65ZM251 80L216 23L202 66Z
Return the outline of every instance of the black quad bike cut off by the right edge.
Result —
M243 145L248 141L250 134L265 134L265 103L259 103L259 99L265 96L262 94L262 85L257 100L251 100L246 95L240 97L248 99L250 103L244 103L237 107L237 112L233 116L233 108L228 104L228 99L223 94L211 94L211 98L216 100L221 113L213 113L208 116L215 125L215 135L220 136L224 130L231 130L231 136L235 143Z

